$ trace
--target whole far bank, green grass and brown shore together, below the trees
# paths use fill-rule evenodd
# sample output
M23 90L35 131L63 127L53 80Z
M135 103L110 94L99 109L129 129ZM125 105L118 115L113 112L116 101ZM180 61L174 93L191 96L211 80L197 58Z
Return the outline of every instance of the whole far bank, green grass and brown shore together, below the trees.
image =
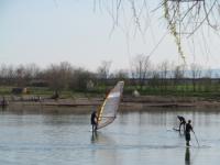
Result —
M54 90L46 87L28 87L26 94L13 95L13 87L0 87L0 95L6 97L10 102L10 107L21 106L46 106L46 107L80 107L91 109L89 107L99 107L112 87L97 87L90 91L73 91L63 90L59 94L58 99L52 99ZM156 107L162 108L196 108L196 107L209 107L220 108L220 95L219 91L201 90L193 91L193 88L150 88L134 86L125 86L123 98L121 100L121 108L123 110L142 110L152 109ZM134 96L132 92L138 90L140 96ZM1 100L2 98L0 98Z

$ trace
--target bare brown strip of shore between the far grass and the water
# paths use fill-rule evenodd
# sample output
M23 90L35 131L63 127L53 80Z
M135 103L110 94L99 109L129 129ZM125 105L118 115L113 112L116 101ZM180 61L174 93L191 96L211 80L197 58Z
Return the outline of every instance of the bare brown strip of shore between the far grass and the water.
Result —
M13 98L9 100L9 107L15 109L16 107L65 107L76 110L84 109L84 111L90 111L91 109L97 109L103 102L105 98L101 97L78 97L78 98L61 98L61 99L50 99L50 98L33 98L33 97L22 97ZM141 96L131 97L124 96L120 103L120 109L125 110L144 110L152 108L220 108L220 100L211 100L204 98L194 97L161 97L161 96Z

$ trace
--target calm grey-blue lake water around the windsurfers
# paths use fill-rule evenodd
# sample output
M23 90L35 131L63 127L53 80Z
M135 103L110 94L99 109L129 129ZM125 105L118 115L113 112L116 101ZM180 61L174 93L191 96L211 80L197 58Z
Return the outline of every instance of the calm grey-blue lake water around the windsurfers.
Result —
M186 148L173 130L177 114L193 120L199 147L191 134ZM96 134L89 120L88 113L1 111L0 164L219 165L220 110L120 112Z

